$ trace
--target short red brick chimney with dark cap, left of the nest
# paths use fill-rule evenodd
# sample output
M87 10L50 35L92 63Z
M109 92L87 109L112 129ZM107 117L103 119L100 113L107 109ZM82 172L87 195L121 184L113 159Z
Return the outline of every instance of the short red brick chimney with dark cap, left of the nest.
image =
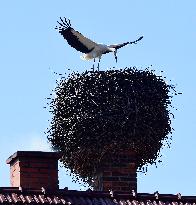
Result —
M18 151L10 156L10 181L12 187L58 189L57 152Z

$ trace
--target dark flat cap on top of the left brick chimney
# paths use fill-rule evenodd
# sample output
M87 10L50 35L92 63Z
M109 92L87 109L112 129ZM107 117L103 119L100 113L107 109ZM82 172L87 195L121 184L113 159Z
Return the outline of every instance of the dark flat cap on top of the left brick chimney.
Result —
M16 158L19 157L35 157L35 158L52 158L60 159L62 156L59 152L42 152L42 151L17 151L12 154L7 160L7 164L11 164Z

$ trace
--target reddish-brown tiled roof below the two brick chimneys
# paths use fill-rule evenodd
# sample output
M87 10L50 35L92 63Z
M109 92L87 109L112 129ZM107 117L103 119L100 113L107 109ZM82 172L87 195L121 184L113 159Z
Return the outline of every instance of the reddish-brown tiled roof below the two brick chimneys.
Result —
M0 204L58 205L183 205L196 203L196 196L133 192L56 191L0 187Z

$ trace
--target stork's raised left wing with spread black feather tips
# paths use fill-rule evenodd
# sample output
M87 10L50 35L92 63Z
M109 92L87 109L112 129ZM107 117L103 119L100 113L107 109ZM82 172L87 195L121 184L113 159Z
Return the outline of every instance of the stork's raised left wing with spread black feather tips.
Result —
M60 20L60 22L57 21L59 26L55 29L58 29L59 33L67 40L71 47L82 53L89 53L94 49L97 44L83 36L78 31L75 31L71 27L70 20L67 20L66 18L63 20L61 17Z

